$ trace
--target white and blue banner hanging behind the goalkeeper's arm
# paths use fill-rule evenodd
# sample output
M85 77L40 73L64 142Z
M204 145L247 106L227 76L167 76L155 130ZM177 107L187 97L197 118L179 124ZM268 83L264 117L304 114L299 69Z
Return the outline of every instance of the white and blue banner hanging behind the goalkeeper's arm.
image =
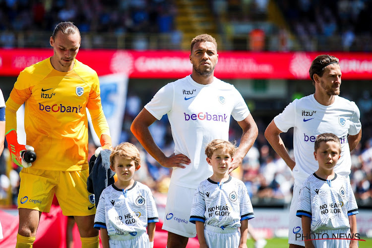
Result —
M111 74L100 76L99 80L103 113L109 124L113 146L115 146L119 143L122 133L128 77L125 74ZM87 115L94 144L101 146L94 131L89 111L87 111Z

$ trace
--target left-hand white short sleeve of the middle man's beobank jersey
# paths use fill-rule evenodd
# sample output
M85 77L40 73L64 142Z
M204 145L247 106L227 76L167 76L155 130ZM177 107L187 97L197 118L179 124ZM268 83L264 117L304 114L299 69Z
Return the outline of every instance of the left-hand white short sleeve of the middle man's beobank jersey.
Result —
M168 83L163 86L145 105L145 109L156 119L160 120L165 114L168 114L173 107L174 89L173 84Z

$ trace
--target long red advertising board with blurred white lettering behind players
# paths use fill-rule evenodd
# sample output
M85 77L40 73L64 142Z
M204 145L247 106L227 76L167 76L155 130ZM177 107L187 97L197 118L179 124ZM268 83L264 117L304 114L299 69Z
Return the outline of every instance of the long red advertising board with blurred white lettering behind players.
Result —
M321 53L219 51L218 78L310 79L311 61ZM372 54L329 53L340 59L343 79L372 79ZM23 68L53 55L52 49L0 49L0 75L17 76ZM77 59L98 75L126 73L130 78L181 78L191 73L186 51L80 50Z

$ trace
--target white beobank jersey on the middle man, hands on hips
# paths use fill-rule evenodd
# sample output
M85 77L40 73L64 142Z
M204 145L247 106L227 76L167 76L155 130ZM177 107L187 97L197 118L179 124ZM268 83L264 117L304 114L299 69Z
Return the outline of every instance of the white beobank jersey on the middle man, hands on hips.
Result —
M171 183L196 188L212 173L204 154L213 139L229 139L230 116L240 122L249 115L242 95L231 84L216 77L208 85L188 75L161 88L145 106L156 119L167 114L175 142L175 154L190 160L186 168L174 167Z

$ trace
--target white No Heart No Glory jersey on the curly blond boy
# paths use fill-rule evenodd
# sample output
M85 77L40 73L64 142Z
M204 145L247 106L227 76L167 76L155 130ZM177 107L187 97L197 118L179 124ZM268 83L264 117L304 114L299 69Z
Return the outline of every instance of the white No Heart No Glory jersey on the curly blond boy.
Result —
M107 229L109 236L135 236L136 232L146 232L150 222L159 222L159 216L148 186L134 182L126 190L110 185L102 191L94 218L95 228Z

